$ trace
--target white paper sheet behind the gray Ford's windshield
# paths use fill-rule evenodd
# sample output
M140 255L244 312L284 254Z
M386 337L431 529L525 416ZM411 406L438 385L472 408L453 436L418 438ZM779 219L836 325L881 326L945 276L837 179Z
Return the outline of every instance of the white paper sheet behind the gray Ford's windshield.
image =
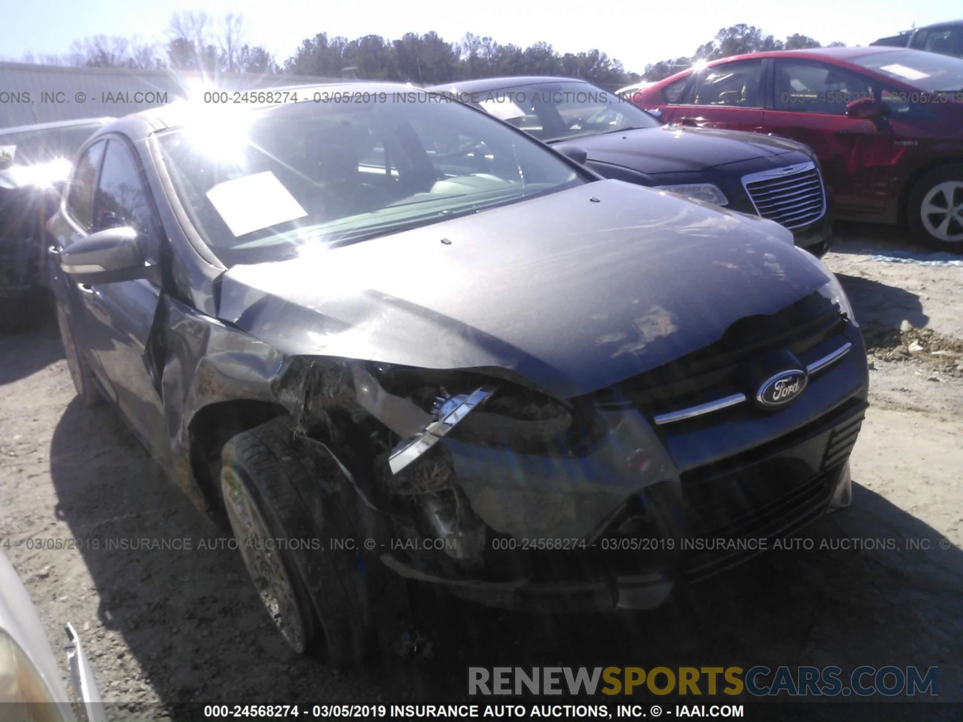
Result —
M235 236L307 216L270 170L219 183L207 197Z

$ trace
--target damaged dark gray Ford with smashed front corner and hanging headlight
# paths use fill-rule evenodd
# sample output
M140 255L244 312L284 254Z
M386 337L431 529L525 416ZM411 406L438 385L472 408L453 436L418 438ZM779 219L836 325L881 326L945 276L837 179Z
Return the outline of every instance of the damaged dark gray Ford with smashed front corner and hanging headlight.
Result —
M849 503L865 348L789 231L441 95L286 100L102 129L48 259L79 396L295 650L358 658L411 580L651 608Z

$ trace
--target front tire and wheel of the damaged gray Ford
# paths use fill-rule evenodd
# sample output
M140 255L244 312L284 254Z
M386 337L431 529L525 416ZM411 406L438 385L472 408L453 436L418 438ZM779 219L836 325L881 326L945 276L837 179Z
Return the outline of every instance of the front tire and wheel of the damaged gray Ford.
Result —
M360 550L373 532L351 484L288 418L238 434L221 456L227 517L278 631L299 654L317 642L336 666L361 661L391 616L379 607L400 605L390 572ZM285 541L275 552L259 539ZM332 539L358 549L329 548Z

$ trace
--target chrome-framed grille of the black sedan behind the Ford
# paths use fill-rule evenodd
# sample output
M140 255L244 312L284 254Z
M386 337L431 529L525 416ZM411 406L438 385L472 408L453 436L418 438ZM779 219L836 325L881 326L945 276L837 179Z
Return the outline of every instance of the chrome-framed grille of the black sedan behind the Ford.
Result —
M742 176L742 185L756 212L787 228L797 228L819 219L826 211L826 195L820 169L806 163L794 172L765 170Z

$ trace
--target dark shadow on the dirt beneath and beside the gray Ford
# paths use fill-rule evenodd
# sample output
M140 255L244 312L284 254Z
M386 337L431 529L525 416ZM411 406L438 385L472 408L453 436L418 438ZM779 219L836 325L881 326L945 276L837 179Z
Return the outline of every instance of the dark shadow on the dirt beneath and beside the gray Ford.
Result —
M53 437L51 471L57 514L82 541L99 620L169 706L450 702L466 697L468 665L939 665L941 699L963 699L963 554L941 549L934 529L858 485L851 510L800 532L813 549L771 551L656 611L550 616L429 601L418 628L434 642L430 657L339 674L288 651L240 555L221 549L223 532L169 484L113 410L73 401ZM931 549L909 550L909 539ZM190 540L191 550L162 548L174 540ZM124 664L113 653L93 659L100 679L122 678Z

